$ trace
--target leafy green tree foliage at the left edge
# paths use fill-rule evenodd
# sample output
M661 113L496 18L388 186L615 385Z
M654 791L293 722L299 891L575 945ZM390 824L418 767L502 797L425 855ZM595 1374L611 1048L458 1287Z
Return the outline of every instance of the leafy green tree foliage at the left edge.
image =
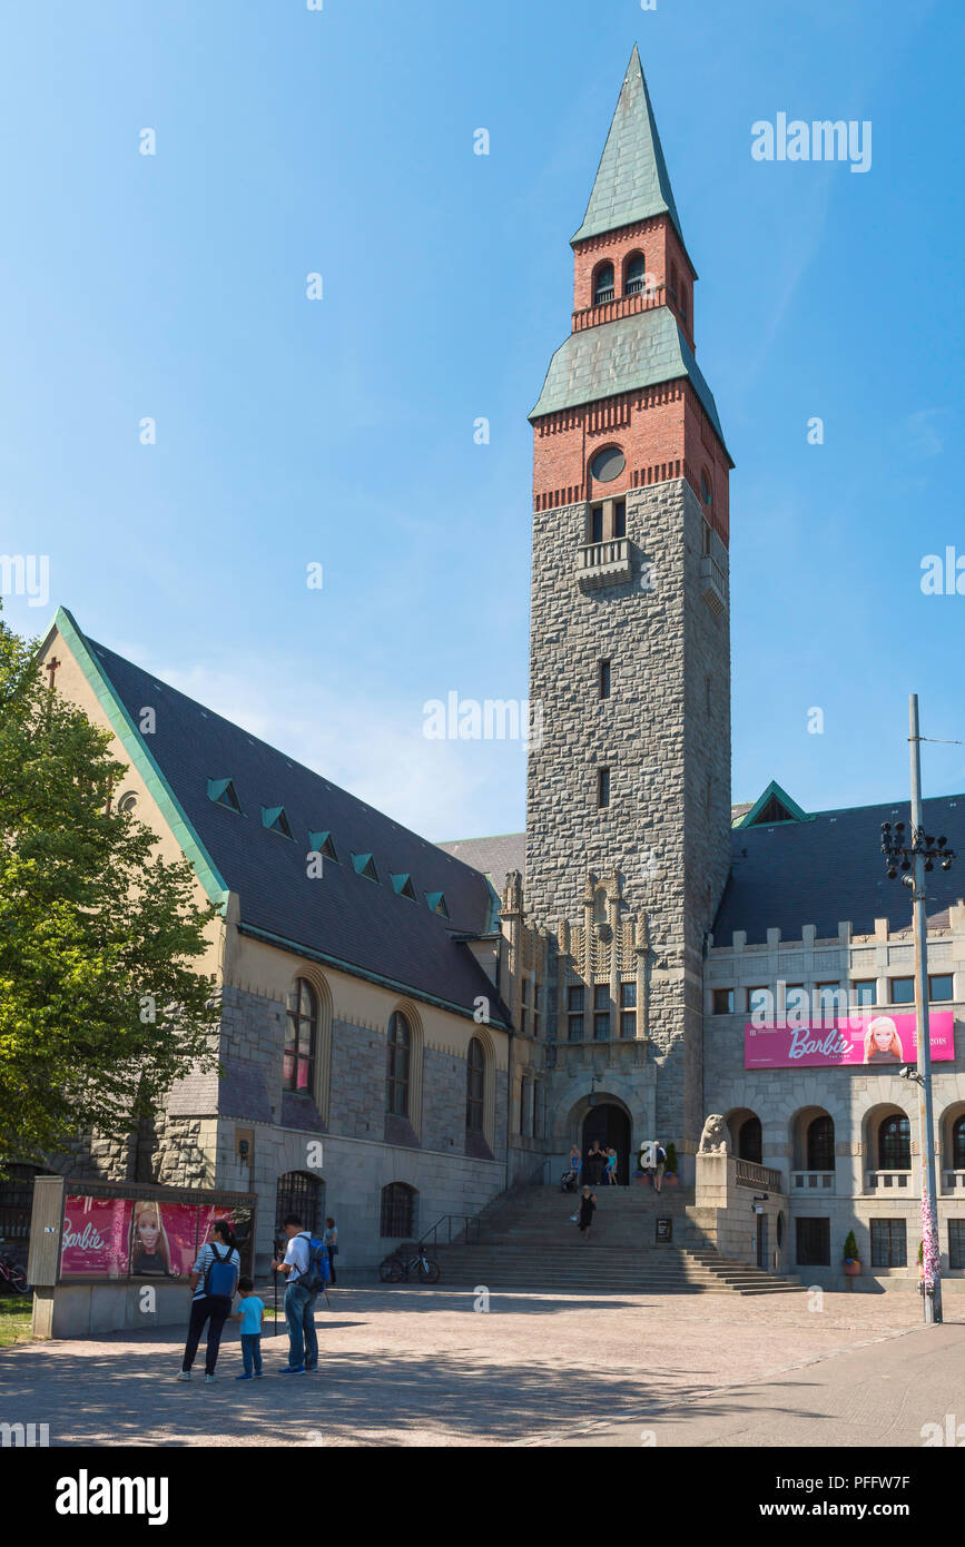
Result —
M217 1066L215 981L192 968L215 910L116 809L110 743L0 616L0 1160L124 1137Z

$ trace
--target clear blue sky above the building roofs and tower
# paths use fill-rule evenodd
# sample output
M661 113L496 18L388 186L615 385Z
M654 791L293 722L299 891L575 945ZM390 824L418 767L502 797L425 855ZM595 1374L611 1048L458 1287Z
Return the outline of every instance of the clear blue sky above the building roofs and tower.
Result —
M8 620L63 603L427 837L521 828L523 749L424 704L527 693L526 415L639 42L738 464L735 798L905 795L911 690L965 738L965 596L920 589L965 560L963 32L960 0L11 8L0 551L51 596ZM871 170L755 161L778 113L871 121Z

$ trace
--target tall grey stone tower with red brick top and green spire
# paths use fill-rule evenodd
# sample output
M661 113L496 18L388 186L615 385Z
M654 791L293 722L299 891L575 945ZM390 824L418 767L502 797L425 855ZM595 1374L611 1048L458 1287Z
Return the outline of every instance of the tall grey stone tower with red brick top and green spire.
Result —
M634 1148L656 1131L690 1151L704 941L730 865L733 464L636 48L572 249L572 331L530 415L526 916L555 951L547 1115L577 1137L595 1075L623 1092Z

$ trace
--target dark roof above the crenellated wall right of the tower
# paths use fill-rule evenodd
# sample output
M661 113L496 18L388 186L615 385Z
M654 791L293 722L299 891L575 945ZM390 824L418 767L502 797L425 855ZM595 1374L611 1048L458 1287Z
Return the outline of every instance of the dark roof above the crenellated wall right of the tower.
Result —
M875 919L892 928L911 924L908 888L888 880L881 854L881 823L911 826L908 801L818 811L807 821L773 828L736 828L731 874L713 927L716 945L730 945L735 930L748 945L762 945L767 930L800 941L806 924L818 939L837 937L851 920L855 934L871 934ZM936 866L928 880L928 922L948 925L948 908L965 894L965 795L925 801L925 828L948 838L959 859L950 871Z

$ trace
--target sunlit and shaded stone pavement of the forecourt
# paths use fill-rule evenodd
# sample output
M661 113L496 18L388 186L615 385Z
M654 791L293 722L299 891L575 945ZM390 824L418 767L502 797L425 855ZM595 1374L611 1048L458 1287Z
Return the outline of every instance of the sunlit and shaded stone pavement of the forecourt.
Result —
M886 1374L900 1361L906 1394L933 1338L929 1371L953 1349L963 1389L962 1312L920 1332L916 1295L824 1295L823 1309L809 1309L810 1295L507 1293L492 1296L489 1313L453 1290L346 1287L331 1301L317 1316L322 1371L294 1380L274 1374L281 1327L263 1338L271 1374L240 1385L234 1327L212 1386L203 1361L189 1385L173 1380L181 1338L170 1330L0 1351L0 1422L49 1423L51 1445L639 1445L648 1428L671 1445L784 1443L775 1414L817 1411L815 1381L829 1369L860 1357L861 1369ZM851 1409L841 1400L835 1417L847 1433L872 1437L864 1398ZM750 1428L761 1406L767 1417ZM917 1409L906 1433L916 1420L925 1422Z

